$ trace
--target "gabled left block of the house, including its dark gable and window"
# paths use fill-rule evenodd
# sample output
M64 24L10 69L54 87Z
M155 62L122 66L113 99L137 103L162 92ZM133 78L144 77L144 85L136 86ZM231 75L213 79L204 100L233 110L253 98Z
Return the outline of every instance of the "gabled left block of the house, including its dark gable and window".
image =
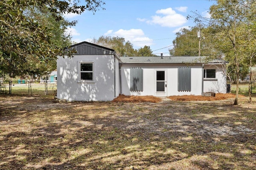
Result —
M57 59L57 98L108 101L119 95L120 58L115 51L88 42L72 45L74 57Z

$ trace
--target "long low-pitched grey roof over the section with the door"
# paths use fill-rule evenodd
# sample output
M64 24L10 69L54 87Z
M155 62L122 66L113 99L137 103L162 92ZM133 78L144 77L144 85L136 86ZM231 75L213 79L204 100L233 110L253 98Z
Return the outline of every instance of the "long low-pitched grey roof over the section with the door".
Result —
M120 57L122 64L140 64L140 63L222 63L222 60L213 60L206 62L207 57Z

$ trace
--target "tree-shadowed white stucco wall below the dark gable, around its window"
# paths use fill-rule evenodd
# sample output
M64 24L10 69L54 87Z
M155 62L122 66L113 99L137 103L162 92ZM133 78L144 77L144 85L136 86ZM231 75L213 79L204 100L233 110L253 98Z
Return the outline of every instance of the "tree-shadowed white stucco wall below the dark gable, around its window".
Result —
M114 96L114 67L118 79L118 63L114 55L75 55L70 58L59 57L57 60L57 98L67 101L108 101ZM78 81L79 62L94 63L94 82ZM116 65L115 63L116 62ZM119 86L116 81L116 87ZM119 88L116 89L116 96Z

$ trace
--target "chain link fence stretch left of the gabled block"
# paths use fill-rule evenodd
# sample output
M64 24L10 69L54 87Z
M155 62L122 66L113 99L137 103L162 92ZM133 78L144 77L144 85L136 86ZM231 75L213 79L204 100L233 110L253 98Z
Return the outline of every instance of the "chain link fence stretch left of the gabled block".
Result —
M0 81L0 94L18 95L55 95L57 93L56 81Z

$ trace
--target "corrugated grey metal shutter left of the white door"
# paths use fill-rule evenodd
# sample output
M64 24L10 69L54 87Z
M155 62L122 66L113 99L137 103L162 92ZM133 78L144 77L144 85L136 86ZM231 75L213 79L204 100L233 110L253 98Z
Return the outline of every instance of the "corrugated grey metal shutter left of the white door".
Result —
M130 91L143 91L143 68L130 68Z

